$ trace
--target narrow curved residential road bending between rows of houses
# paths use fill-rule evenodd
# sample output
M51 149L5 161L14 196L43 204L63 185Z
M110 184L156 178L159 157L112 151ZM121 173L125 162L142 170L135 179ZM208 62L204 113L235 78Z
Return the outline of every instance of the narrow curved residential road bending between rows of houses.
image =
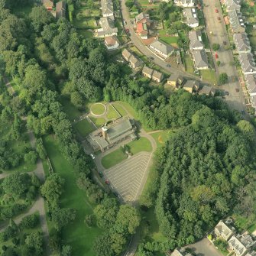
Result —
M125 5L125 0L121 0L121 12L122 12L122 18L124 21L127 22L127 24L125 25L125 28L128 28L130 31L130 39L131 42L134 44L135 47L138 48L138 50L141 51L141 53L143 53L145 56L149 57L153 57L154 60L153 62L155 64L157 64L157 66L162 67L164 70L166 70L168 73L177 73L180 76L183 76L186 79L196 79L199 80L199 76L193 76L190 73L186 73L183 70L178 70L174 67L168 67L167 63L164 60L161 60L159 57L157 57L154 53L151 52L151 50L149 50L142 42L141 39L137 36L137 34L134 31L134 26L131 23L130 20L130 15L128 12L128 8Z

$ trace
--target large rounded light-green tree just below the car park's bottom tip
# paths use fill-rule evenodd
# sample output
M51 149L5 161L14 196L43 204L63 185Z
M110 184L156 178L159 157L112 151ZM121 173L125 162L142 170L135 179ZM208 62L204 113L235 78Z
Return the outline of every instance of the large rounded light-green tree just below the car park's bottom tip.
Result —
M125 228L129 234L134 234L140 222L141 215L138 209L128 205L120 206L116 218L116 225L120 226L120 228Z

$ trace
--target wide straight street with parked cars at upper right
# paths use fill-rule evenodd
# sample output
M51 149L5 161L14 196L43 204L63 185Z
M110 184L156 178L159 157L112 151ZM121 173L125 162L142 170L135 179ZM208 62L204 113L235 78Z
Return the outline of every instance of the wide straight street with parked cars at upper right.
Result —
M217 51L219 56L220 66L216 65L215 52L212 51L212 57L215 61L216 73L227 73L228 83L220 86L220 89L224 89L229 92L229 96L225 96L226 102L239 112L241 110L246 111L245 97L241 90L240 83L238 82L238 73L235 66L231 66L230 63L234 62L232 50L225 50L223 42L227 42L226 47L229 46L228 34L225 28L225 22L222 15L222 8L219 0L203 0L203 15L206 19L206 32L209 37L209 44L220 44L220 49ZM215 8L219 10L219 13L215 13ZM218 21L218 17L220 21ZM210 35L212 31L212 35ZM238 88L239 92L235 89Z

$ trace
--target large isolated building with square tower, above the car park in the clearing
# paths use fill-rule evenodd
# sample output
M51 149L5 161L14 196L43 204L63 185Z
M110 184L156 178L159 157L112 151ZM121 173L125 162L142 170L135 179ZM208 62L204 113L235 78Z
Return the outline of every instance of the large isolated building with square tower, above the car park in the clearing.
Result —
M119 119L112 125L92 131L86 139L94 151L104 152L122 141L134 141L137 138L135 131L134 120Z

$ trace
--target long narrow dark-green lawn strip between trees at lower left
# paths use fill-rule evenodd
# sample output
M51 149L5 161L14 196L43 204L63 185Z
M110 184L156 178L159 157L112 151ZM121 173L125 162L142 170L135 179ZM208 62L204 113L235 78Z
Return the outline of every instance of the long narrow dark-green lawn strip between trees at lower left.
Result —
M73 256L95 256L92 250L93 241L102 234L102 230L96 226L88 228L85 223L85 215L93 214L92 206L88 202L86 194L76 186L76 177L70 162L68 162L58 150L57 142L53 136L44 138L44 146L53 165L53 170L65 179L64 193L61 196L61 206L76 210L76 219L66 228L63 228L63 244L72 246Z

